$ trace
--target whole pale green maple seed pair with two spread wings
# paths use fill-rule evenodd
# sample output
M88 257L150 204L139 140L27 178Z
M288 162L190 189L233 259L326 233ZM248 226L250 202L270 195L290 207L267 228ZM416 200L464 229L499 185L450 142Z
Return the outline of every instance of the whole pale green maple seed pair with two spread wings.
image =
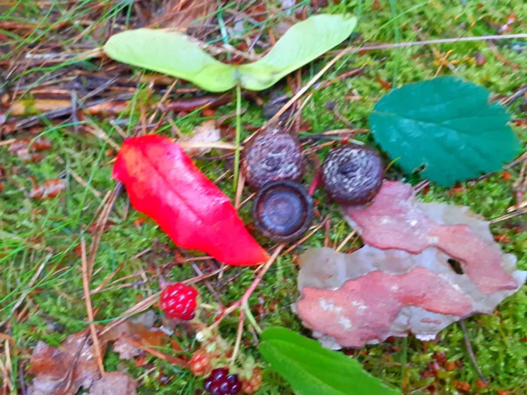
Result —
M207 91L227 91L238 83L259 91L345 40L356 24L355 17L312 16L289 28L266 56L245 65L217 61L184 34L148 28L116 34L103 49L117 61L183 78Z

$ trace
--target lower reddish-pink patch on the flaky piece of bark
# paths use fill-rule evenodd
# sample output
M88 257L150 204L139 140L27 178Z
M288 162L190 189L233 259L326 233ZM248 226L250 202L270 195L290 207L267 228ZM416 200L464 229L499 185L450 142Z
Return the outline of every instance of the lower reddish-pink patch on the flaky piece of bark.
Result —
M296 304L308 328L342 347L385 339L405 306L461 318L471 313L472 300L437 274L416 268L402 275L370 272L338 290L305 287Z

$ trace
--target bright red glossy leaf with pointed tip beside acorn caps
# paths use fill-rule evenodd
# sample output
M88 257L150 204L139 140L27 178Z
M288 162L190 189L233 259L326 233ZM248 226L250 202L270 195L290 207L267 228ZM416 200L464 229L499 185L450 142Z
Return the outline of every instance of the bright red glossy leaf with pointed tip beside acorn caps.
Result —
M229 197L172 139L155 134L126 139L113 178L126 185L132 206L153 218L183 248L204 251L231 265L268 259Z

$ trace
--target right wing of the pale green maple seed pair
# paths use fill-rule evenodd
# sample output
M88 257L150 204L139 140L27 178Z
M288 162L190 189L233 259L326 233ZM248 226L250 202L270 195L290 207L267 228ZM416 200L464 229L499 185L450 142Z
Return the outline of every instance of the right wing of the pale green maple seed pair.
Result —
M320 14L297 23L259 61L239 66L241 85L260 91L344 41L356 17Z

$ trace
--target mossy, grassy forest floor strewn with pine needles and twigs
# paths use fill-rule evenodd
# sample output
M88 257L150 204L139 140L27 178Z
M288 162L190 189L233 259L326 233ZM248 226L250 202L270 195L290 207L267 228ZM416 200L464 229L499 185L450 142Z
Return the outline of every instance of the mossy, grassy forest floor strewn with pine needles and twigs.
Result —
M115 181L111 172L116 150L124 137L141 132L189 134L204 121L233 114L236 105L230 102L214 110L197 108L162 114L152 104L159 102L167 90L170 102L202 96L203 91L181 81L171 85L175 78L157 77L154 81L152 73L106 57L83 56L104 44L113 29L119 30L124 25L166 27L171 23L188 26L190 34L216 47L220 57L230 57L231 61L236 61L236 54L225 49L230 48L227 44L247 51L247 45L240 45L247 42L247 37L255 37L259 32L259 40L272 42L287 23L319 12L350 12L359 16L355 33L340 47L527 32L527 3L523 0L343 0L321 7L313 3L324 2L281 3L291 3L289 7L293 8L260 0L223 2L220 8L217 2L210 1L194 2L191 7L170 1L0 3L3 393L22 393L17 392L21 385L25 388L31 383L32 376L27 370L37 341L58 345L68 335L87 328L81 239L85 240L89 259L94 263L89 287L94 321L101 325L118 319L124 311L159 290L156 265L162 267L170 281L189 279L218 268L217 262L199 260L197 252L178 249L152 220L130 207L124 190L116 196L112 194ZM152 12L163 7L162 13ZM235 16L246 18L242 28L236 25L239 18ZM493 100L503 100L527 83L525 45L524 41L514 40L474 41L346 55L321 78L322 82L331 82L329 86L310 88L308 93L313 96L301 109L293 130L297 128L305 138L305 146L317 145L320 159L327 155L332 144L315 137L328 130L355 129L358 132L348 137L375 145L369 133L368 115L379 98L391 88L434 76L463 78L486 87ZM258 45L256 49L259 50ZM260 100L291 97L335 54L328 52L269 90L257 93L257 98L244 97L242 137L266 122ZM346 76L346 72L358 68L362 68L359 73ZM125 103L124 111L113 111L114 100ZM102 103L101 107L84 111L94 102ZM57 115L61 108L66 110ZM513 101L509 110L513 130L525 146L525 96ZM162 121L158 123L159 120ZM223 140L232 141L234 118L223 121L221 129ZM12 139L36 136L44 136L51 142L51 149L44 152L43 158L25 162L8 151ZM321 144L324 146L320 147ZM202 155L196 164L211 180L220 179L217 185L234 199L232 162L211 159L222 153ZM431 183L418 197L427 202L466 205L487 220L500 219L515 204L516 194L521 193L518 180L522 165L525 162L452 188ZM310 163L302 182L309 185L313 176L314 166ZM418 175L406 176L397 163L386 176L413 184L421 181ZM46 180L54 180L51 183L63 180L65 190L46 200L31 197L35 185ZM242 200L250 194L245 189ZM323 191L315 192L314 199L319 215L313 229L322 221L327 225L319 226L307 240L281 256L249 301L262 328L282 325L309 334L290 309L298 298L296 257L310 246L337 246L351 231L337 205L328 202ZM239 211L249 229L250 205L250 201L243 204ZM107 208L111 211L101 226L98 221ZM491 230L502 249L518 257L519 269L527 270L525 216L494 222ZM258 240L266 249L273 248L274 244L264 238L258 236ZM352 238L343 251L360 245L360 239ZM189 262L189 258L196 260ZM252 278L252 268L231 266L221 276L213 276L207 283L199 282L196 286L203 301L228 305L240 298ZM154 305L153 312L151 320L155 326L166 324L158 305ZM236 315L224 319L220 325L223 338L233 341L237 327ZM404 393L425 394L435 390L453 394L527 394L527 286L501 303L494 314L467 319L466 328L477 363L489 381L487 386L482 385L471 363L458 323L441 331L435 341L422 342L410 335L407 340L389 339L350 353L356 355L367 371L391 386L402 388ZM162 356L190 357L198 347L194 335L186 330L177 330L171 340L156 348ZM265 366L256 345L251 331L243 331L242 352L252 354ZM202 381L170 363L170 358L150 353L138 361L139 358L120 359L109 347L104 369L128 371L137 379L140 394L200 393ZM258 394L287 393L291 393L287 382L266 367Z

